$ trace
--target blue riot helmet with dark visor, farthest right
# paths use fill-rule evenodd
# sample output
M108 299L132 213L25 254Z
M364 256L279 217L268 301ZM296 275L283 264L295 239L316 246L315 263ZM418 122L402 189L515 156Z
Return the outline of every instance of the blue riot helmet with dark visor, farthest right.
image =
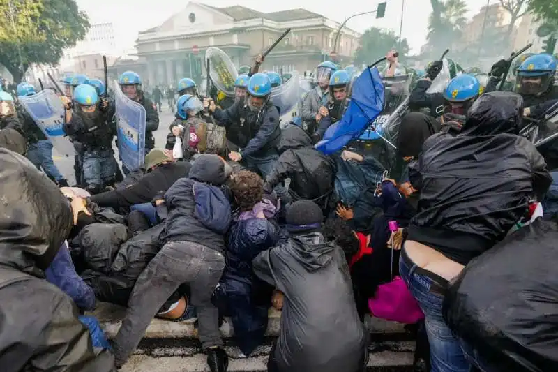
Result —
M550 54L535 54L519 66L516 91L519 94L541 95L552 88L556 59Z

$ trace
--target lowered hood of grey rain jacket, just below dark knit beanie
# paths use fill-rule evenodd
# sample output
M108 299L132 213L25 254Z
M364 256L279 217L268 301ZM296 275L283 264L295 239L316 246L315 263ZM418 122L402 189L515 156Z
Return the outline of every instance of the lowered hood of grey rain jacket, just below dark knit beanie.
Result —
M289 243L293 257L310 272L329 265L330 253L335 249L335 244L326 243L319 232L292 236Z

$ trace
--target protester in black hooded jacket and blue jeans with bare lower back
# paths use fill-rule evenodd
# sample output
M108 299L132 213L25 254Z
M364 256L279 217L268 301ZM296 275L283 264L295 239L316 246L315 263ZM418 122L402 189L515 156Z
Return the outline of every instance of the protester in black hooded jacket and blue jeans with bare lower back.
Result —
M502 240L550 185L541 154L516 135L522 112L517 94L483 94L462 131L429 137L411 167L420 200L407 229L400 274L425 313L434 372L469 371L442 318L448 281Z

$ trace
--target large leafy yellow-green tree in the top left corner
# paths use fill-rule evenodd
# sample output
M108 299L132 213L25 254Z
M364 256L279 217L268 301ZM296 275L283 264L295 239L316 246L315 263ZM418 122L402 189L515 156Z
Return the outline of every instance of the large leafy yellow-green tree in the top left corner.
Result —
M87 29L74 0L0 0L0 64L20 82L31 64L57 64Z

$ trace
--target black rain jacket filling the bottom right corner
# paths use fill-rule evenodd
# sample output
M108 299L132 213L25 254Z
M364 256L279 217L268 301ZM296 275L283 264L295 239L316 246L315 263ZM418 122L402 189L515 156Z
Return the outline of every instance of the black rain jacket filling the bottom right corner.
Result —
M558 371L558 225L538 218L465 267L444 319L491 371Z

